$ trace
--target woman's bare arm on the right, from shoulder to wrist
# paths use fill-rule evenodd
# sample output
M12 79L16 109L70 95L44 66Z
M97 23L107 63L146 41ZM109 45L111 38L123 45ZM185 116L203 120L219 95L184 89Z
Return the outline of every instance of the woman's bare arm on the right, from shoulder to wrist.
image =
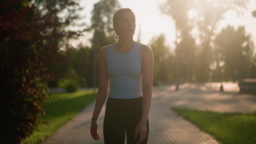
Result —
M147 123L152 100L154 57L151 47L142 45L142 116L140 122Z

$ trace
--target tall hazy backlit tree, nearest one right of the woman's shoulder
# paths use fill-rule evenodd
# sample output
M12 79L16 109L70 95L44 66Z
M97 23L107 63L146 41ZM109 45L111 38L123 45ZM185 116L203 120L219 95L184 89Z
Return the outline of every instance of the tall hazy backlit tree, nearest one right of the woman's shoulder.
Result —
M170 0L161 5L163 13L170 15L176 26L176 49L175 49L175 77L176 83L179 81L193 81L195 71L195 40L191 37L193 25L188 17L194 1L190 0ZM183 79L182 79L183 78Z

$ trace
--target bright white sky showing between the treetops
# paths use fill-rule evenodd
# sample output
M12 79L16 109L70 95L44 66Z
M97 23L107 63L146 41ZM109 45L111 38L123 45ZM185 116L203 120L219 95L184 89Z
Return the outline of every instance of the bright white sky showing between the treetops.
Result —
M91 10L93 5L99 0L81 0L80 5L84 8L83 13L86 15L86 23L90 25ZM166 43L174 48L175 26L170 16L161 12L158 7L159 3L164 3L166 0L119 0L122 8L131 8L136 15L136 31L133 36L134 40L138 38L139 27L141 27L141 43L148 44L149 41L156 35L164 33L166 35ZM256 1L250 0L248 5L249 11L256 10ZM237 17L234 11L229 11L225 15L226 19L220 23L220 28L226 25L237 27L238 25L246 26L246 31L252 34L254 45L256 46L256 17L251 13L244 13L244 17ZM83 37L81 40L91 38L91 35ZM86 42L85 42L86 43Z

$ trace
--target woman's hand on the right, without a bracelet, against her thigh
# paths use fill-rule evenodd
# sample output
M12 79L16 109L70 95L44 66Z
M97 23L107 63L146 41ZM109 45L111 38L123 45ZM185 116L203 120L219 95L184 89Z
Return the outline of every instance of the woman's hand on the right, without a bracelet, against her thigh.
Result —
M135 130L135 139L137 140L136 142L139 144L144 139L146 139L147 133L147 122L139 122Z

